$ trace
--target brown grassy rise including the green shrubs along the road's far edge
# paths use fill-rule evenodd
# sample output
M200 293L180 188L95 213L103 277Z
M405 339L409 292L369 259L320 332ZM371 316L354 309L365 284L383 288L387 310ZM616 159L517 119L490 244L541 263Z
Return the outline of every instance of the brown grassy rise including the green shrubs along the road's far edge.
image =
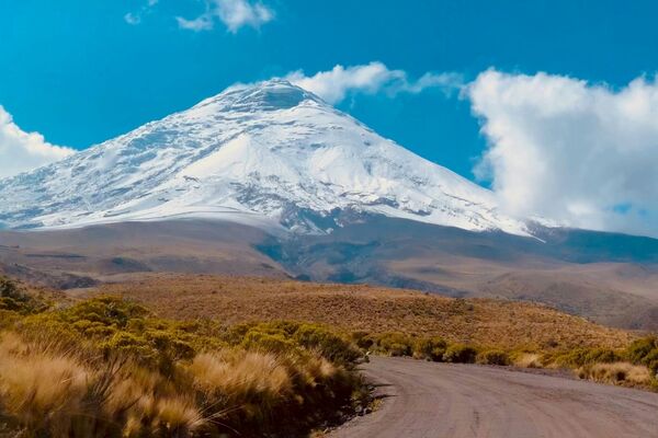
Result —
M172 319L311 321L337 327L374 355L567 369L600 382L656 385L655 338L540 304L361 285L191 275L141 275L135 281L105 285L99 292L136 299Z

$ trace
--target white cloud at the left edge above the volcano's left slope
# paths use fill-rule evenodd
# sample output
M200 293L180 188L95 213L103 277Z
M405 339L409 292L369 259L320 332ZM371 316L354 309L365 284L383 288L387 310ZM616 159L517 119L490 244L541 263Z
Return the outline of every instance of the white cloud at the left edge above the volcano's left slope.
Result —
M0 106L0 177L26 172L72 153L72 149L46 142L38 132L23 131Z

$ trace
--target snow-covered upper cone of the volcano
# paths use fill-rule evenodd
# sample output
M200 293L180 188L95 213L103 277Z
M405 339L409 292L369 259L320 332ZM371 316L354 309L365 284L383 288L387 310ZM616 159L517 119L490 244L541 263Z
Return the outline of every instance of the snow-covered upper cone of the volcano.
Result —
M489 191L282 80L0 180L5 228L198 217L328 232L363 214L527 233Z

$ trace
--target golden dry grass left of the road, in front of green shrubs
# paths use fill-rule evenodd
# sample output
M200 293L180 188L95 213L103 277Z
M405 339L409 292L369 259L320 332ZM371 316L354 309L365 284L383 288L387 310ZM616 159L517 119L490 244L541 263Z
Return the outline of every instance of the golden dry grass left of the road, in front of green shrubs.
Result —
M12 436L306 436L365 391L361 378L313 349L226 345L166 374L126 351L46 339L43 328L38 339L0 332L0 431Z

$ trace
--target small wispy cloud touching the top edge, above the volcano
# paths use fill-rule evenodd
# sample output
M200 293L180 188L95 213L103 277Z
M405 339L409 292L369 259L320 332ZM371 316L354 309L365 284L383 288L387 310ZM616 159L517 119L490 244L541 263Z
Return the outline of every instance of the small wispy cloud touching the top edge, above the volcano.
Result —
M248 0L208 0L206 11L195 19L177 16L179 27L195 32L209 31L218 20L229 32L236 33L243 26L259 28L274 20L274 12L261 2Z

